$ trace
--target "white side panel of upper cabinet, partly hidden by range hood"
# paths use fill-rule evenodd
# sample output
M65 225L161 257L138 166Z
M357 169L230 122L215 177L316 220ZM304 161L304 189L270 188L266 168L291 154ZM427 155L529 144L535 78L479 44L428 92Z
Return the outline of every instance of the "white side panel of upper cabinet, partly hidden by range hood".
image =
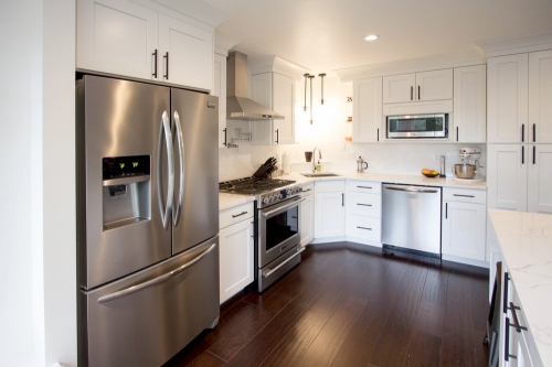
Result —
M253 75L251 77L251 99L273 108L272 73ZM273 143L274 120L251 121L252 144L269 145Z

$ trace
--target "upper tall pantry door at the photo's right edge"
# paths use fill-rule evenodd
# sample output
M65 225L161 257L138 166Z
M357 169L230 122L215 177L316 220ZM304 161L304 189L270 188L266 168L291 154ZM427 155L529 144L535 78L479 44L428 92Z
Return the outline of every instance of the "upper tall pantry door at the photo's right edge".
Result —
M552 50L529 54L529 142L552 142Z

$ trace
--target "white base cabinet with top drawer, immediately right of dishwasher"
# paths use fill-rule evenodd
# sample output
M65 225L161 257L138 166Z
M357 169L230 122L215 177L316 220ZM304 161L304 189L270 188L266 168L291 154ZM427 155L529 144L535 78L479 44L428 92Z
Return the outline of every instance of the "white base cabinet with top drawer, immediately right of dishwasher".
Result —
M485 261L486 192L444 187L442 215L443 256Z

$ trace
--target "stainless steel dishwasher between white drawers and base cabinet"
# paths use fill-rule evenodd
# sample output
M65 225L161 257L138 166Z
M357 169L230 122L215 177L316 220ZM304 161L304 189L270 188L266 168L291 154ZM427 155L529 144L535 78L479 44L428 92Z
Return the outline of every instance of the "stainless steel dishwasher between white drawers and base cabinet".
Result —
M440 258L440 187L383 184L384 248Z

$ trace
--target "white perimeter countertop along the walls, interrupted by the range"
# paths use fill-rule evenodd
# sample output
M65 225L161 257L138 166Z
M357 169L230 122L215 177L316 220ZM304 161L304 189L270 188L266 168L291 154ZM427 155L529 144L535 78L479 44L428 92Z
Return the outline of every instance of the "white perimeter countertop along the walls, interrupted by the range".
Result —
M461 187L461 188L474 188L474 190L487 190L487 183L484 182L465 182L457 181L450 177L429 179L422 174L408 175L408 174L393 174L393 173L357 173L357 172L336 172L338 176L330 177L306 177L298 172L290 173L285 176L276 177L278 180L293 180L298 184L315 182L315 181L331 181L331 180L364 180L364 181L375 181L375 182L391 182L391 183L402 183L411 185L427 185L427 186L442 186L442 187ZM230 207L244 204L247 202L253 202L255 198L253 196L235 195L219 193L219 211L224 211Z

